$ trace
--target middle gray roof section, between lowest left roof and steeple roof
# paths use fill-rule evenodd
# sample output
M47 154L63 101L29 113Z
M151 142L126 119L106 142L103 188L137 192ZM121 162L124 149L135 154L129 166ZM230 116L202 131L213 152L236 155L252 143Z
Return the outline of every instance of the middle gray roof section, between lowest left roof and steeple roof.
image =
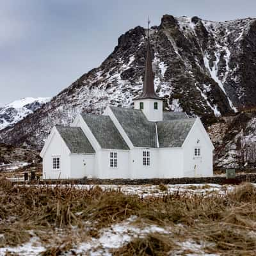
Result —
M81 114L81 116L101 148L129 149L109 116L88 114Z

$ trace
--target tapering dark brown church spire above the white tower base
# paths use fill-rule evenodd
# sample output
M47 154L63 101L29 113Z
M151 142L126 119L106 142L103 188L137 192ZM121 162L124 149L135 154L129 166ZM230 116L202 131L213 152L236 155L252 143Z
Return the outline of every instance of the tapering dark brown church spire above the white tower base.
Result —
M150 49L150 36L149 36L149 24L148 19L148 42L147 42L147 58L145 65L145 74L143 81L143 92L139 99L161 99L156 95L154 87L154 74L152 68L151 49Z

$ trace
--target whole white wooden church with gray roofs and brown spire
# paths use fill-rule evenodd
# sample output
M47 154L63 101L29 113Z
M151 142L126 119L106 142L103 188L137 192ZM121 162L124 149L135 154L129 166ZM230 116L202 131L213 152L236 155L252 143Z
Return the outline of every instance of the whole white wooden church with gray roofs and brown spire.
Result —
M43 179L164 179L212 176L212 142L200 121L163 111L147 44L143 92L134 109L108 106L55 126L40 153Z

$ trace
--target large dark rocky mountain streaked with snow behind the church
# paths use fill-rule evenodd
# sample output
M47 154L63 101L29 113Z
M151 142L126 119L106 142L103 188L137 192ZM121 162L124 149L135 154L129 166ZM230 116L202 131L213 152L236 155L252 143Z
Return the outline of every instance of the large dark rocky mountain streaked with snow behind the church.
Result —
M211 22L164 15L150 28L156 91L167 111L202 116L205 124L255 106L256 19ZM5 143L41 148L54 124L77 113L102 113L108 104L131 107L141 92L147 29L118 38L98 68L0 136Z

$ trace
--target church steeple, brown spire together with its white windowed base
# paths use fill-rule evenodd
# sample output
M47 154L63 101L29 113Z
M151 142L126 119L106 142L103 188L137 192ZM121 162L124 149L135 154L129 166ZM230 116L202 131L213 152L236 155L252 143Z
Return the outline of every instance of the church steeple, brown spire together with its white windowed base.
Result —
M143 81L143 91L140 97L134 100L134 108L141 109L145 116L147 116L148 121L163 121L163 99L157 96L155 92L149 39L147 43L147 59Z

